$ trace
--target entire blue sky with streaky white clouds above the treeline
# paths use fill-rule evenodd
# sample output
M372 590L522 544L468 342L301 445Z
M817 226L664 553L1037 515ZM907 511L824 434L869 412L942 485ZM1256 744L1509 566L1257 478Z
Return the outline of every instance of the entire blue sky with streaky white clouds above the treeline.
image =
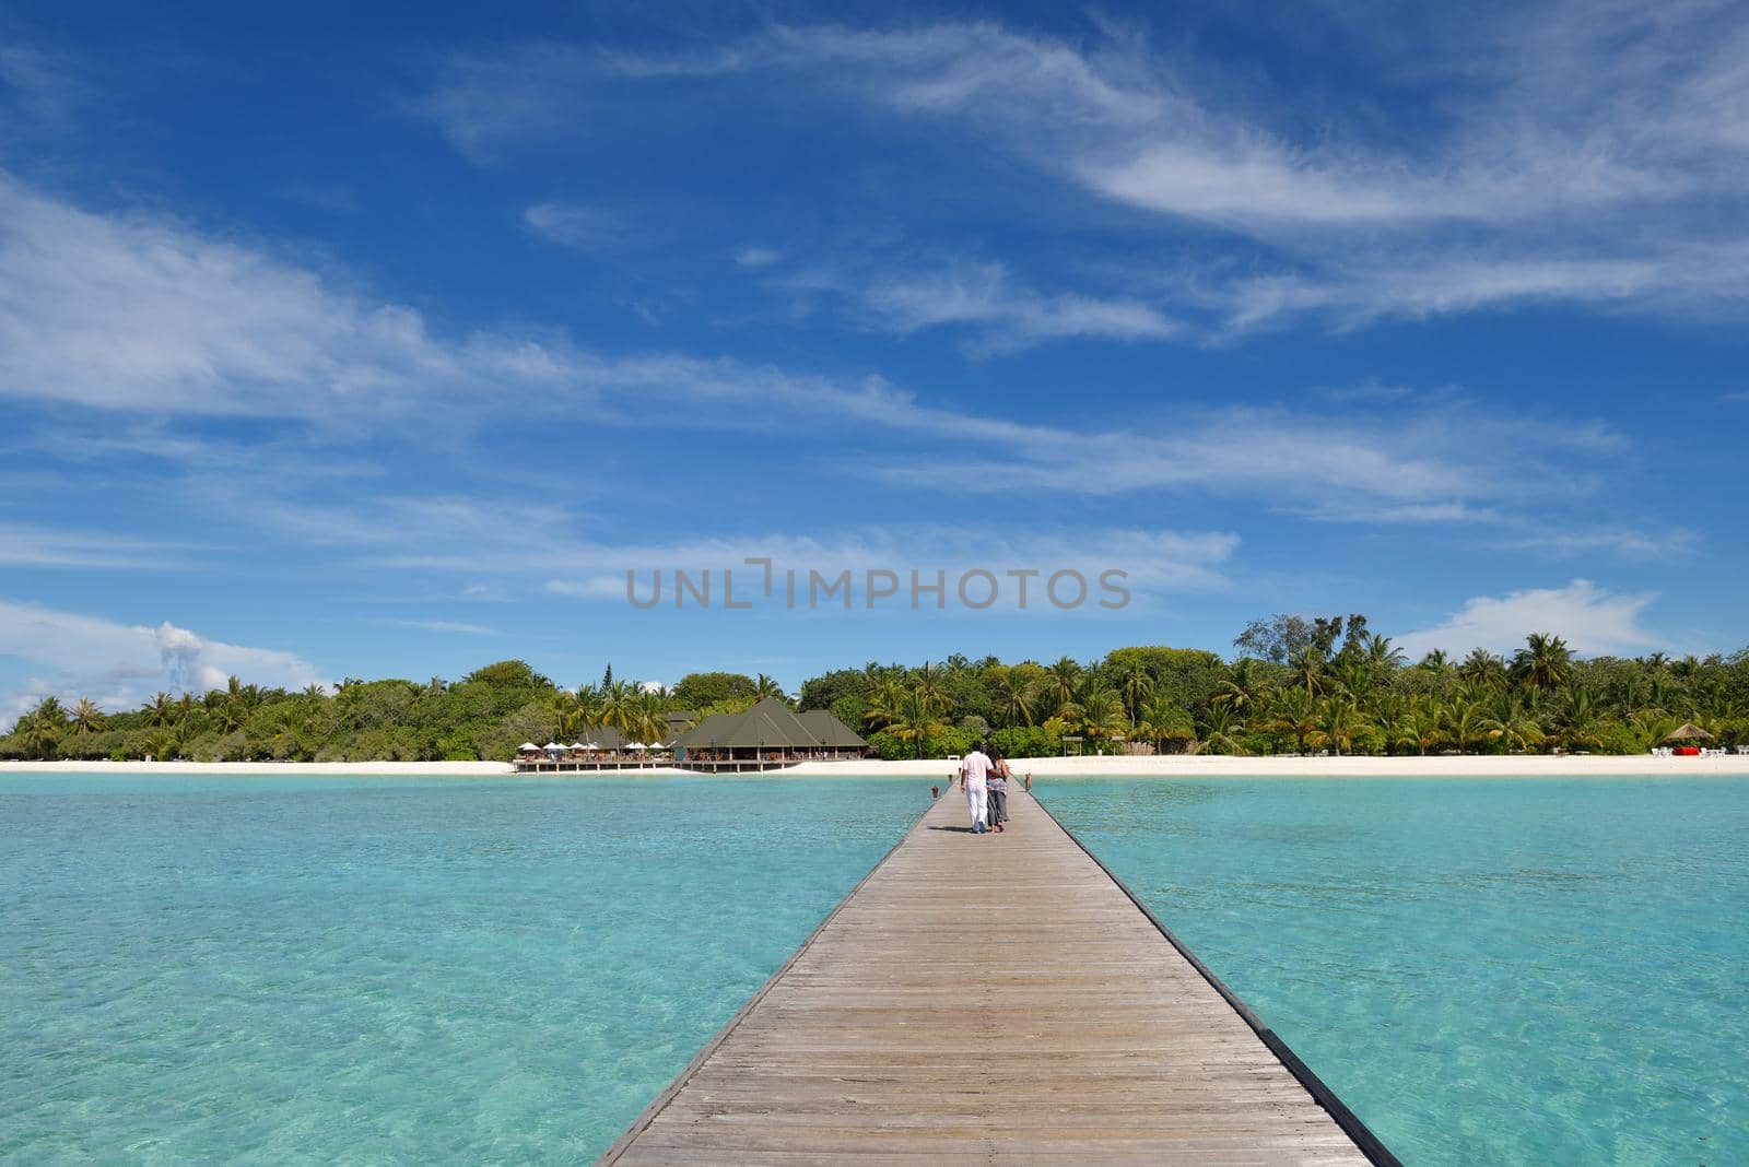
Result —
M254 7L0 9L9 708L1749 641L1742 5Z

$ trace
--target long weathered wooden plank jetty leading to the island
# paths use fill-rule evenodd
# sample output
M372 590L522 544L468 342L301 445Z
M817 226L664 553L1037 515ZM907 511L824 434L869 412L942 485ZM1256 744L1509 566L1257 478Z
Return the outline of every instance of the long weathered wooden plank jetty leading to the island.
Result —
M1397 1162L1009 800L1007 832L971 835L944 790L600 1162Z

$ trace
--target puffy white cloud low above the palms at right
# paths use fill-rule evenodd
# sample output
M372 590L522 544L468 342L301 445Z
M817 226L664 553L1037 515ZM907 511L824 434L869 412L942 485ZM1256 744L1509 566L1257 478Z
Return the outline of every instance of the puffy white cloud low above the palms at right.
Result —
M1473 648L1513 652L1530 632L1551 632L1583 655L1632 655L1660 648L1665 639L1641 625L1641 615L1656 596L1623 596L1588 580L1567 587L1527 589L1506 596L1478 596L1450 620L1399 638L1410 657L1434 648L1464 655Z

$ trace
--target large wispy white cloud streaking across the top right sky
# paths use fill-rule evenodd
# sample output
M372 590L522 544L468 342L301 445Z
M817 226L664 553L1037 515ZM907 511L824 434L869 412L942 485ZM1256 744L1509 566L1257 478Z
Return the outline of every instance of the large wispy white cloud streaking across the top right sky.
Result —
M1415 31L1413 59L1378 65L1413 133L1380 133L1333 94L1212 77L1112 24L1070 42L988 21L775 24L668 56L525 44L456 58L423 110L484 157L577 133L603 86L773 80L960 131L1098 201L1258 245L1238 269L1139 257L1168 269L1175 299L1146 306L1158 318L1132 306L1105 335L1536 300L1744 314L1749 33L1730 5L1555 3L1429 16ZM1322 115L1301 117L1319 100ZM923 318L955 320L941 288L916 295ZM1195 311L1207 330L1163 325Z

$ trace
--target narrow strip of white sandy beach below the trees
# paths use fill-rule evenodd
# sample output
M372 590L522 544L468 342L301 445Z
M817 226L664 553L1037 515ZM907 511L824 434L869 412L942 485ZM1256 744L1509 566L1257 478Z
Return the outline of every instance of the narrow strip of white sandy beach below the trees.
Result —
M1035 777L1627 777L1733 774L1749 777L1749 756L1655 758L1634 756L1406 756L1406 758L1021 758L1020 770ZM771 776L826 777L834 774L881 777L946 777L953 762L805 762ZM212 774L276 777L502 777L507 762L0 762L0 774ZM686 770L619 770L626 776L673 776ZM546 777L598 777L609 772L547 774ZM733 774L724 779L733 779Z

